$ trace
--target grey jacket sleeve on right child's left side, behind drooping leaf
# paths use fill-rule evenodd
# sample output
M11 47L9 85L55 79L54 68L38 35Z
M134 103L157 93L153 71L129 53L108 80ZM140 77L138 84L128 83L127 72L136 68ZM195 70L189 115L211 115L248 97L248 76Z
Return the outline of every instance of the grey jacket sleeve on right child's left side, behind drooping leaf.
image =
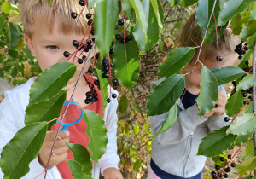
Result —
M199 111L196 104L186 110L180 111L177 115L177 122L159 136L154 137L154 139L161 144L175 144L183 141L187 136L193 133L197 125L207 121L207 118L199 116L198 113ZM167 115L168 113L164 113L150 117L152 135L156 134L161 129Z

